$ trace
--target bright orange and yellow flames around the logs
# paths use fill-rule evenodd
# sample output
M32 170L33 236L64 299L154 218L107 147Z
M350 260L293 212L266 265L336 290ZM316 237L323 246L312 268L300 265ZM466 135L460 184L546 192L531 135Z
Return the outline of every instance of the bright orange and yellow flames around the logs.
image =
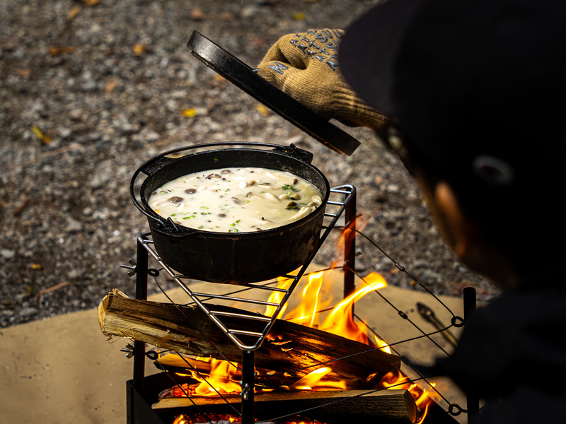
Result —
M279 314L281 319L311 328L318 328L320 331L326 331L330 334L345 336L350 340L359 341L360 343L365 343L373 348L379 348L383 352L392 354L391 348L388 347L386 341L382 341L375 335L370 338L366 325L362 322L354 321L352 313L354 303L357 300L374 290L379 290L387 286L386 281L381 275L378 273L369 274L369 276L364 278L364 287L352 293L352 295L348 296L328 311L325 310L330 303L330 299L325 300L325 302L322 302L320 299L320 292L323 290L324 281L323 271L311 273L306 281L307 283L304 285L303 290L301 290L303 301L299 302L299 306L290 312L282 311ZM279 278L279 287L285 288L289 283L289 279ZM272 296L276 295L274 294ZM322 315L320 310L327 312L322 324L319 324L320 315ZM268 315L269 311L266 311L265 314ZM285 340L281 338L281 341L274 341L275 339L269 336L268 339L272 340L272 343L281 346L282 351L285 351L285 346L291 343L290 339ZM292 347L288 348L289 351L291 349ZM187 361L187 363L185 363L185 361ZM183 384L182 387L174 386L171 387L171 389L161 392L159 401L154 405L154 408L171 407L171 405L175 403L187 404L187 402L183 401L163 401L164 399L182 399L189 396L194 399L195 396L233 395L241 391L241 387L238 384L241 380L238 367L229 361L216 360L214 358L196 358L196 360L190 360L190 358L181 358L179 355L168 354L158 359L158 363L169 367L169 369L185 367L190 377L195 379L197 383ZM406 389L415 400L417 409L416 418L411 417L411 422L414 423L422 423L422 420L424 420L426 416L427 408L432 402L432 397L428 396L417 384L411 383L409 378L403 375L399 370L387 372L385 375L379 372L371 373L363 379L363 382L345 378L336 381L335 379L328 378L327 376L332 373L331 365L318 367L298 380L286 377L284 375L285 373L275 372L273 370L256 371L258 372L256 379L259 382L256 393L275 390L303 392L302 394L295 393L287 396L279 396L279 399L283 399L284 397L288 399L301 397L313 399L312 393L317 393L322 399L328 400L331 399L328 393L320 392L350 390L350 394L341 393L341 396L347 397L356 396L354 389L363 390L369 387L374 389L391 388L398 391ZM278 374L279 377L275 377L276 374ZM206 378L203 378L202 375L205 375ZM277 383L274 384L276 378ZM310 393L306 394L306 392ZM397 396L402 395L398 394ZM356 408L355 402L351 404L352 408Z

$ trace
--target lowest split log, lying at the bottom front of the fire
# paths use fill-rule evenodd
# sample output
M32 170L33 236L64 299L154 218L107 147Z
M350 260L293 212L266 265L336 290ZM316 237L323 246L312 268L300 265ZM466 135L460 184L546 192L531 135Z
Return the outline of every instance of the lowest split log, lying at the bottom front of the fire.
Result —
M241 402L240 396L237 395L224 396L224 399L216 396L161 399L151 408L188 408L197 413L196 404L204 413L230 413L231 408L226 403L233 404L232 406L238 409L234 404ZM412 424L417 417L415 399L408 390L270 392L255 394L254 406L255 418L258 420L287 416L299 411L301 416L325 423L364 422L364 419L367 419L371 420L371 423ZM183 413L190 415L190 412Z

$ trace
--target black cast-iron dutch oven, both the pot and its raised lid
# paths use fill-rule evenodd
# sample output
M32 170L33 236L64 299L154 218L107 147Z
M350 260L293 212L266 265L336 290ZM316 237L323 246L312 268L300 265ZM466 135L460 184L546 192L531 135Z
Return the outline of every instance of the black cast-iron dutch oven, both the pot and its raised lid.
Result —
M187 47L209 68L333 151L351 155L359 146L359 141L350 134L260 78L250 66L197 31L192 32ZM218 149L218 146L224 147ZM212 150L171 157L202 147ZM318 249L330 187L326 177L311 165L312 158L311 153L293 145L270 143L210 143L179 148L141 165L132 177L130 196L148 218L156 252L175 271L212 283L265 281L306 264ZM150 194L166 182L192 172L222 167L264 167L291 172L314 184L323 194L323 202L316 211L294 223L258 232L185 228L158 216L149 207ZM140 173L147 177L141 185L138 202L134 182Z

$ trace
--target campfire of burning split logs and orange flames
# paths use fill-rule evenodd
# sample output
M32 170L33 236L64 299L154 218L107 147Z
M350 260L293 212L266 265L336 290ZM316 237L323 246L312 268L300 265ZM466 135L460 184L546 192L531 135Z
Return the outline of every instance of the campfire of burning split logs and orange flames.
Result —
M378 273L370 273L363 278L359 290L333 307L330 307L332 300L323 296L324 281L323 271L302 278L296 288L301 293L298 306L287 310L286 305L279 312L277 322L256 353L255 402L259 406L256 409L267 409L271 417L278 411L285 419L288 411L300 411L307 405L313 408L339 402L343 414L359 413L363 405L371 416L385 414L396 419L402 417L406 423L422 423L432 398L400 372L400 359L386 341L373 334L368 336L366 324L354 320L355 302L385 288L385 279ZM287 288L290 283L289 278L278 278L277 287ZM281 293L273 292L268 300L277 302ZM229 348L229 341L217 340L221 335L212 331L214 327L207 325L209 320L199 310L179 308L132 300L115 291L100 305L100 322L108 334L124 336L130 327L135 329L137 338L176 352L161 355L156 365L190 382L164 388L152 405L154 410L240 402L240 353ZM269 316L273 312L270 308L262 314ZM226 311L231 309L224 307ZM156 322L149 317L167 322L167 334L156 333L152 327ZM186 321L187 317L192 324L206 327L203 331L222 355L218 351L208 351L206 357L195 355L202 346L190 345L198 334L175 324ZM181 347L185 341L189 341L187 347ZM264 349L266 354L261 352ZM353 356L348 358L350 355ZM261 406L264 402L269 408ZM325 418L329 414L311 413L311 416ZM179 418L178 423L192 420L183 417L186 421Z

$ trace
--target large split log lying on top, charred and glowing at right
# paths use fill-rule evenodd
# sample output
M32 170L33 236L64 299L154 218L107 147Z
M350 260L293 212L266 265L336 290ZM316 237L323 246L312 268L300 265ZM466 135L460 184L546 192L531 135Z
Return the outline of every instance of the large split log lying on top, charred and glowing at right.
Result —
M98 306L100 329L108 336L133 338L186 355L228 359L240 363L242 351L198 307L123 297L115 290ZM214 310L250 314L236 308L209 305ZM259 315L259 314L258 314ZM233 329L262 332L265 322L223 317ZM224 355L224 358L223 358ZM329 379L364 380L373 373L398 370L400 358L364 343L277 319L255 351L255 366L303 377L324 364Z

